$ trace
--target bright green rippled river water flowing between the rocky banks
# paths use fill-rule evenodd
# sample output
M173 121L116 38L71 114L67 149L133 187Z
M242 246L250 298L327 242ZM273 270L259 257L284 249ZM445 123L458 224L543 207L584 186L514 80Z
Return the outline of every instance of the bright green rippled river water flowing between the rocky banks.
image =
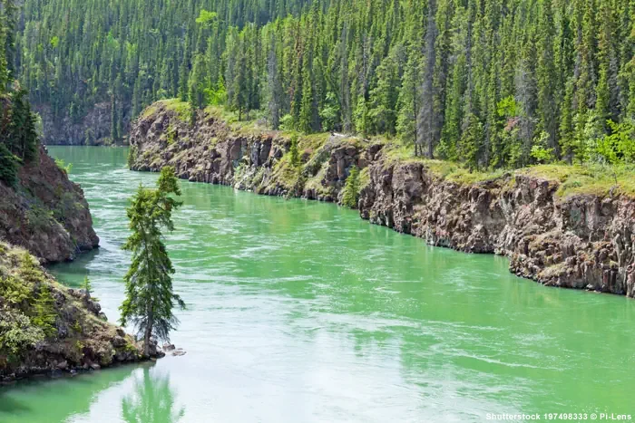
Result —
M101 248L84 275L118 319L124 207L156 174L126 149L50 148L73 163ZM487 413L630 413L635 302L543 287L493 255L369 225L331 204L181 183L168 236L188 305L156 364L0 390L0 422L486 421ZM542 418L543 419L543 418Z

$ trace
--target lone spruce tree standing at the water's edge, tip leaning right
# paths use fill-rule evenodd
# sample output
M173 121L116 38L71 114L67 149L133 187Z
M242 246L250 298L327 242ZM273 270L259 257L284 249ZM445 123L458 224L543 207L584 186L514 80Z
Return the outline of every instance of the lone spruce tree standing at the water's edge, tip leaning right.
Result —
M134 324L143 335L143 353L150 354L154 336L168 341L170 331L179 323L174 306L185 308L181 297L172 291L174 268L165 249L161 229L174 230L172 210L181 206L170 195L180 196L172 168L162 168L156 189L142 187L132 197L128 218L132 235L122 246L132 252L132 264L125 275L126 299L120 310L122 325Z

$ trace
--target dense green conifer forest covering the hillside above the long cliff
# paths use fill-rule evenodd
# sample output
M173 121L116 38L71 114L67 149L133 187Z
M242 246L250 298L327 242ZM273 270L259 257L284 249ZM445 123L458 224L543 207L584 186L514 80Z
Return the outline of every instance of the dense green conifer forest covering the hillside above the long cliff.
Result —
M25 0L16 24L31 100L110 101L113 139L181 97L470 168L635 160L635 0Z

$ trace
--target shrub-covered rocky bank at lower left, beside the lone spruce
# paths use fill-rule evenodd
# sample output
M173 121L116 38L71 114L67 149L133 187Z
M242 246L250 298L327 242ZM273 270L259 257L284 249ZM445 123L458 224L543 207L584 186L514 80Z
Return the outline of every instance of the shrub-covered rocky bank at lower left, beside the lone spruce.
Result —
M138 361L90 293L57 284L32 255L0 242L0 382Z

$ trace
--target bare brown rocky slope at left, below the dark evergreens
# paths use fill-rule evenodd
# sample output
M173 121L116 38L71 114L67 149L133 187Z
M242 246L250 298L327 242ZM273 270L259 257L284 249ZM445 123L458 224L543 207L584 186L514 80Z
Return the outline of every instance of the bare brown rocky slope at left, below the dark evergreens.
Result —
M44 262L73 259L99 244L82 188L44 149L19 171L17 187L0 182L0 239Z

